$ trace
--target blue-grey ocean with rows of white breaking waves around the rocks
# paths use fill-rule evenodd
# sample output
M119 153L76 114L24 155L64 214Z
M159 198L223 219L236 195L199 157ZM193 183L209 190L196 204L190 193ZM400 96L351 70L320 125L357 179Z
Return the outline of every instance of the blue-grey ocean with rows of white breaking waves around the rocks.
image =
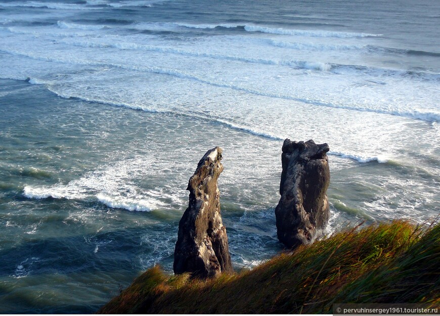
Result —
M0 313L172 273L220 146L234 268L283 250L283 140L330 147L331 235L440 213L440 2L0 1Z

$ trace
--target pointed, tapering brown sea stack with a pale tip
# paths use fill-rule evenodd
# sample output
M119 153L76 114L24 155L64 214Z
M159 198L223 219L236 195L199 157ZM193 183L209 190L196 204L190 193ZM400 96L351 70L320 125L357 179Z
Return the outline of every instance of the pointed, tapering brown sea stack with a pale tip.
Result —
M208 150L189 180L189 204L179 222L174 250L175 274L191 272L192 277L213 278L233 270L217 187L223 171L221 159L221 148Z

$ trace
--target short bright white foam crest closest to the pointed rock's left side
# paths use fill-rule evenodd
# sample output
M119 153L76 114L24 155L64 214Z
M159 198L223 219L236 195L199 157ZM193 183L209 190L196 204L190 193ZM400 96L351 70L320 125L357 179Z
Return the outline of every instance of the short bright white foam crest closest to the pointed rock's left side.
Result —
M163 205L160 201L149 199L134 199L120 196L109 196L104 193L99 193L96 196L98 200L111 208L122 208L129 211L143 211L149 212L155 208Z

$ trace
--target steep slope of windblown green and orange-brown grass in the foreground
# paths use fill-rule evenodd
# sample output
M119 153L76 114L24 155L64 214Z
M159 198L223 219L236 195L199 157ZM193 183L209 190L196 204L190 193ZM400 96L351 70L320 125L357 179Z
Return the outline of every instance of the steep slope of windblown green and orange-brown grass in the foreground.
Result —
M331 313L333 303L439 303L440 224L346 231L207 282L155 266L100 313Z

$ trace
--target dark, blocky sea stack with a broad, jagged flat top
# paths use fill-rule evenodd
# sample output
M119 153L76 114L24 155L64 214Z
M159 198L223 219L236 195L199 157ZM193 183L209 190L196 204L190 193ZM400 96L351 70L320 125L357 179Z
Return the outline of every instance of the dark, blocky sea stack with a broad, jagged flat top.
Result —
M283 144L280 202L275 209L278 239L289 248L310 244L328 222L330 184L327 144L313 140Z

